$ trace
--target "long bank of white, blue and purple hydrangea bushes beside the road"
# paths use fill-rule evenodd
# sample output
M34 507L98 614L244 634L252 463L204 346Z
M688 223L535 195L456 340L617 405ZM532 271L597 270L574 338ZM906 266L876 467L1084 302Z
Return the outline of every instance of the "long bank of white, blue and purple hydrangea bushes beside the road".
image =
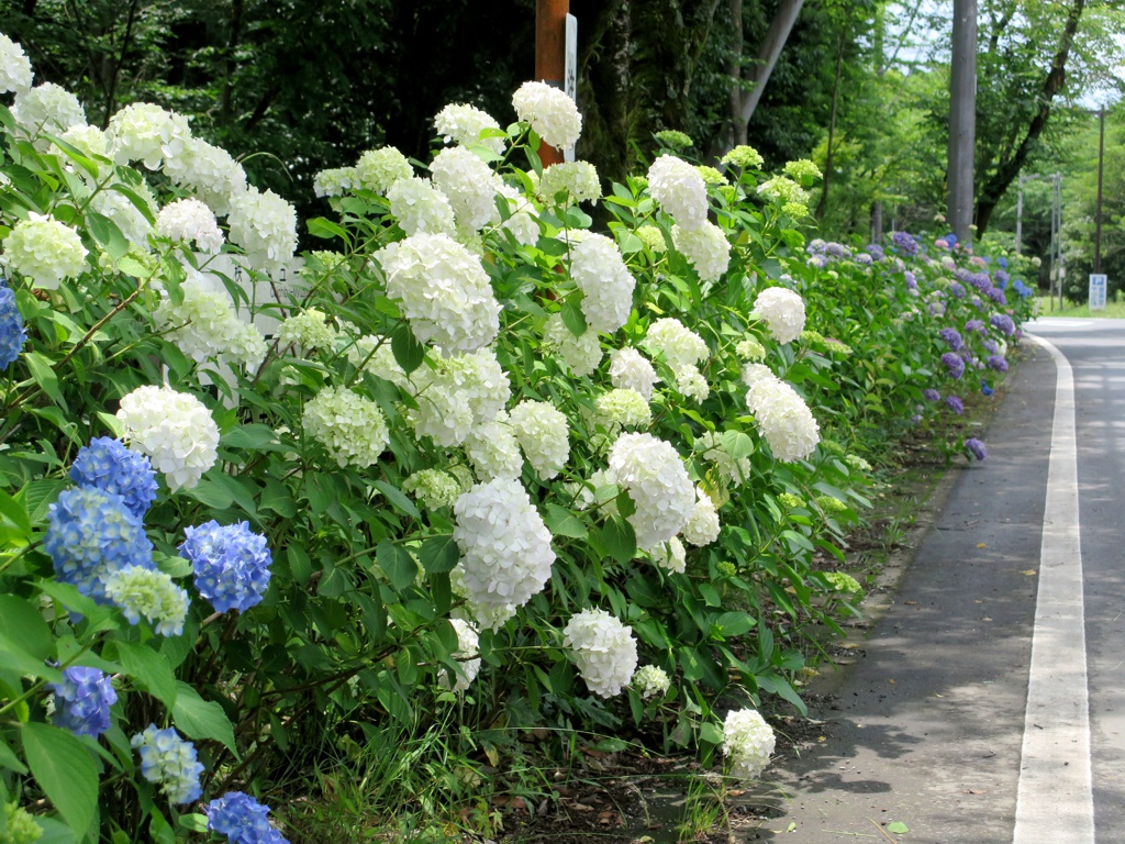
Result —
M713 701L802 707L867 458L1027 313L947 245L807 244L816 173L749 147L544 173L547 86L298 226L186 117L32 82L0 37L0 800L52 841L285 841L238 789L452 707L489 758L632 719L756 775Z

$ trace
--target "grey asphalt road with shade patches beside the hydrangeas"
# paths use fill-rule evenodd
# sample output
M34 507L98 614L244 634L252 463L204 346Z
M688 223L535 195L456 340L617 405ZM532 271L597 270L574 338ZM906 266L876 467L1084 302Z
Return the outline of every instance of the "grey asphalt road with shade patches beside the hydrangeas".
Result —
M958 473L856 664L831 703L810 713L826 721L825 740L767 771L789 799L780 801L781 817L746 839L1010 844L1018 793L1017 842L1089 842L1076 821L1081 793L1071 792L1073 782L1083 781L1076 772L1092 766L1096 841L1125 842L1125 514L1118 503L1125 496L1117 494L1125 478L1125 321L1040 320L1029 329L1072 368L1074 445L1055 443L1052 455L1059 370L1046 349L1025 340L1022 362L982 437L989 458ZM1077 458L1077 526L1059 518L1055 503L1056 512L1045 512L1048 466L1060 451L1070 455L1071 466ZM1064 499L1068 492L1076 497L1073 479L1053 484ZM1043 671L1044 654L1048 663L1060 662L1043 649L1050 639L1043 628L1055 616L1073 614L1072 607L1051 609L1053 586L1038 599L1033 683L1046 689L1048 704L1034 703L1028 713L1038 582L1054 572L1052 564L1041 571L1041 554L1048 559L1045 523L1073 533L1070 556L1084 578L1074 581L1074 623L1083 629L1084 599L1090 749L1063 733L1063 739L1046 742L1046 758L1036 761L1032 756L1042 751L1034 742L1055 735L1052 719L1074 728L1069 706L1081 708L1087 734L1086 689L1074 689L1069 679L1083 661L1065 656L1064 665ZM1055 557L1069 563L1066 556L1056 548ZM1073 630L1056 638L1081 645ZM1059 682L1052 667L1068 680ZM1050 788L1053 772L1058 791ZM1086 801L1088 819L1089 787ZM889 832L896 821L909 832Z

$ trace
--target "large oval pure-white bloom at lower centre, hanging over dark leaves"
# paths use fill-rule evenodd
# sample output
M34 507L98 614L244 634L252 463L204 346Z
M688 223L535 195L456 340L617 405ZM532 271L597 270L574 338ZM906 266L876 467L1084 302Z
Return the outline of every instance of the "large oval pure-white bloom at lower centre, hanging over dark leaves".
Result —
M453 514L461 551L457 568L470 605L522 607L542 591L555 563L551 535L519 481L475 484L457 500Z

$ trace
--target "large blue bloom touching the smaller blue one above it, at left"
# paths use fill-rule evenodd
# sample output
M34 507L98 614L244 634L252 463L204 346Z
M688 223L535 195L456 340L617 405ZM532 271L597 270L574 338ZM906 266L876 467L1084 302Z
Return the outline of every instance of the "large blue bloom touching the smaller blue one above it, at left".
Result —
M120 495L100 490L65 490L47 510L43 548L55 576L105 602L106 580L126 566L153 568L152 542L141 518Z

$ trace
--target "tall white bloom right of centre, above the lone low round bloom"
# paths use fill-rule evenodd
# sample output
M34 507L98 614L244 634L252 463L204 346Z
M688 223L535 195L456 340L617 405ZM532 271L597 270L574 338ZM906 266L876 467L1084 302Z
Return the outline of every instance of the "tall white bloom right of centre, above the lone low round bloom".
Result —
M623 433L610 449L610 468L629 491L637 547L651 551L683 529L695 508L695 486L669 443L650 433Z

